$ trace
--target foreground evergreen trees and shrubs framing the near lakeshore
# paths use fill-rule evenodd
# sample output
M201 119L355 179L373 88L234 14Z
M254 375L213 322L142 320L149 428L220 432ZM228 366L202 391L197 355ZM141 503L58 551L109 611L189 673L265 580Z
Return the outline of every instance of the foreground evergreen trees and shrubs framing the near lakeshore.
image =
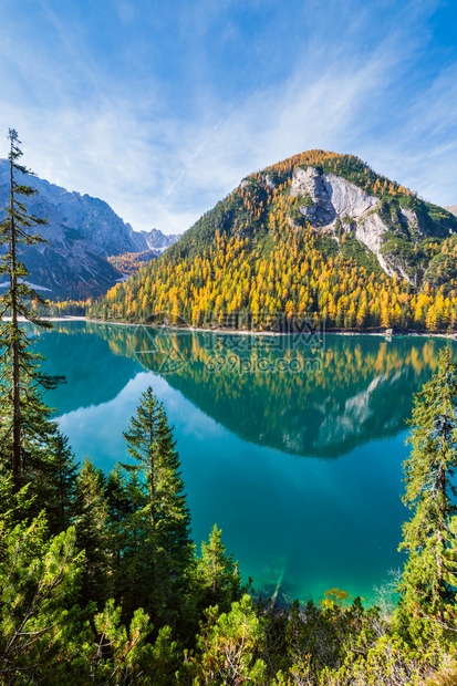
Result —
M416 396L405 464L406 563L380 606L330 589L281 606L241 585L221 531L197 553L179 456L152 388L110 474L76 465L43 392L25 318L44 303L18 260L40 242L14 181L0 225L0 680L3 684L442 686L457 678L457 367L448 349ZM34 306L30 303L35 303ZM247 522L248 526L248 522Z

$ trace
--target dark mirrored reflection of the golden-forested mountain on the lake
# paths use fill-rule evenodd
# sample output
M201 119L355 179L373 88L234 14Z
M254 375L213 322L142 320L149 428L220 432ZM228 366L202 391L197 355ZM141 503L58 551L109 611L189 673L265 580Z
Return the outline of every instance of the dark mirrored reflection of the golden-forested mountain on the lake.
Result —
M54 357L52 346L67 351L69 384L81 385L90 368L86 402L114 397L143 366L243 440L334 458L405 429L413 394L430 377L446 344L420 336L386 341L326 334L322 346L310 349L288 336L278 344L268 335L87 322L56 324L54 336L41 337L40 350L49 358ZM107 346L115 357L106 355ZM53 403L67 410L62 401L53 396Z

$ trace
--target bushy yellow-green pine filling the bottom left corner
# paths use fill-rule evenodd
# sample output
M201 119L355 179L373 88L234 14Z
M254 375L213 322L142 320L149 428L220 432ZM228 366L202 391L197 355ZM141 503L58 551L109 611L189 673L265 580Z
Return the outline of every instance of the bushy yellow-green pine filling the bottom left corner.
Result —
M10 480L0 480L0 682L82 683L67 678L92 637L74 606L74 529L49 538L43 513L29 520L29 488L11 495Z

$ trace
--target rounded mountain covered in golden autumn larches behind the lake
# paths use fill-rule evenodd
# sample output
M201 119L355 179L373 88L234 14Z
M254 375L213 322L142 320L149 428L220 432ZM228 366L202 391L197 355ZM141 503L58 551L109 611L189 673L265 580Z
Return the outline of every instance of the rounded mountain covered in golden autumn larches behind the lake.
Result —
M245 178L160 260L111 289L101 319L274 329L454 326L457 218L352 155L310 150Z

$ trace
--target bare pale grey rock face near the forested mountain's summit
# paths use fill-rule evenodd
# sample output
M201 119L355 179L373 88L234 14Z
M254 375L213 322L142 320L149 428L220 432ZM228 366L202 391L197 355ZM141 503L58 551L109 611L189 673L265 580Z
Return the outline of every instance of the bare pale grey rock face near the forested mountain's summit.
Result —
M339 242L351 232L376 256L388 276L399 273L414 281L408 260L390 250L388 241L397 236L414 242L435 235L415 211L399 205L386 206L345 178L312 166L294 170L290 195L299 199L299 211L311 226L330 231ZM447 235L448 229L438 226L437 232Z

